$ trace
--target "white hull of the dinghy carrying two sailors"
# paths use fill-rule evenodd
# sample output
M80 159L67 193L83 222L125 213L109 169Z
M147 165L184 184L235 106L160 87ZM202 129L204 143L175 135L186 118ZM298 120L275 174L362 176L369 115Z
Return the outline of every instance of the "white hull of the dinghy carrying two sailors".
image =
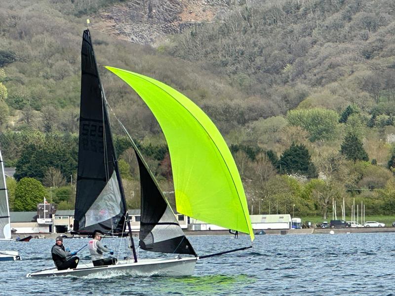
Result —
M194 273L196 257L180 259L141 259L133 261L118 261L116 265L96 266L92 263L81 264L74 269L57 270L56 268L45 269L28 273L26 277L50 277L50 276L189 276Z

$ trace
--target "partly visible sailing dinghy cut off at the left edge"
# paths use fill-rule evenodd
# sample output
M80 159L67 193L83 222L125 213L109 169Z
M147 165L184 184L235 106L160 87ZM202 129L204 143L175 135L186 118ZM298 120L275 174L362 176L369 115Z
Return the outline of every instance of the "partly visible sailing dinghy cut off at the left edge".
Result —
M0 151L0 240L11 240L11 222L9 220L9 207L7 186L5 184L5 174L3 159ZM17 251L0 251L0 261L20 260Z

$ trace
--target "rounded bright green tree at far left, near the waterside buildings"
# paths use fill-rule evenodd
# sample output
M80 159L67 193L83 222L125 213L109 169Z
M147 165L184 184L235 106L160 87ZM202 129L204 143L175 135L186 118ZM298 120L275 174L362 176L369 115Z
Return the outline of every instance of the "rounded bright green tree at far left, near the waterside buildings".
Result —
M37 205L47 197L44 186L34 178L22 178L15 188L14 210L36 211Z

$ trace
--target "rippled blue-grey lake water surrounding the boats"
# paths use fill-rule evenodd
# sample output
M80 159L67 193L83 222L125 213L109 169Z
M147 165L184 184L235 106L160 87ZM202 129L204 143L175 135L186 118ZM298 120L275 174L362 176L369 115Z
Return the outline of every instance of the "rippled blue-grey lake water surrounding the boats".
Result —
M246 235L189 237L198 255L249 245ZM78 250L88 239L65 239ZM105 238L114 249L121 239ZM0 242L22 261L0 262L3 296L30 295L386 295L395 296L395 233L257 235L253 249L197 262L184 278L130 276L26 278L53 266L50 239ZM123 245L120 245L124 249ZM89 261L86 248L80 264ZM140 251L139 256L147 257ZM45 293L45 294L43 294Z

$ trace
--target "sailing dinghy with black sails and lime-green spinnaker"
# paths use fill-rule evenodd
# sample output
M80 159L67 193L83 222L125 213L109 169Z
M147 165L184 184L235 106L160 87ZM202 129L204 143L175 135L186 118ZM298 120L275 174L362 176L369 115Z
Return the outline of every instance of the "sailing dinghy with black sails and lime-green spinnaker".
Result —
M178 224L139 149L128 135L140 170L141 217L139 247L177 255L165 259L138 259L132 238L125 195L112 141L107 101L97 70L90 33L83 33L81 50L81 105L79 164L74 230L79 234L101 230L128 231L133 258L116 265L32 272L27 277L85 276L94 273L135 276L188 276L198 257ZM107 67L125 80L157 118L168 143L177 211L222 227L248 233L254 239L247 202L234 159L212 121L192 101L173 88L146 76ZM204 160L204 161L202 161ZM127 228L126 228L127 227Z

